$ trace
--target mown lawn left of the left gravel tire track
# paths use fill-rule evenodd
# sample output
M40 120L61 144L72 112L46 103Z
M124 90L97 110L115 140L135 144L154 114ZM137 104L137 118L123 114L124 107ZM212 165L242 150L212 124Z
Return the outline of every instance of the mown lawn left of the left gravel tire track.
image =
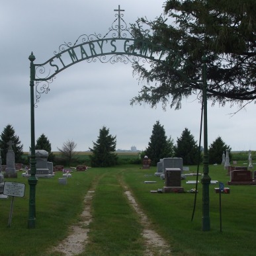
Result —
M60 185L58 178L38 179L36 185L36 228L29 230L28 198L29 185L26 178L18 174L18 179L5 179L26 185L23 198L15 198L11 227L7 227L11 196L0 200L0 255L48 255L49 247L58 244L68 234L71 224L77 223L84 208L83 199L95 180L90 172L75 172Z

